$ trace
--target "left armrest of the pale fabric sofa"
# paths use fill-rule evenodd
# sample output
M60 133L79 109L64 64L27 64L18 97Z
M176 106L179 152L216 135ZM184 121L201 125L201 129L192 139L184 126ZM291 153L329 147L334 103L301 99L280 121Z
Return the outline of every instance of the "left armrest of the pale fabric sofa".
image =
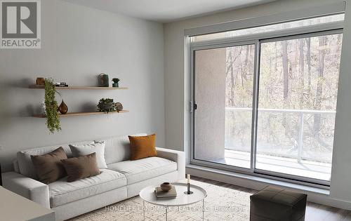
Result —
M50 209L48 185L15 172L3 173L2 180L6 189Z

